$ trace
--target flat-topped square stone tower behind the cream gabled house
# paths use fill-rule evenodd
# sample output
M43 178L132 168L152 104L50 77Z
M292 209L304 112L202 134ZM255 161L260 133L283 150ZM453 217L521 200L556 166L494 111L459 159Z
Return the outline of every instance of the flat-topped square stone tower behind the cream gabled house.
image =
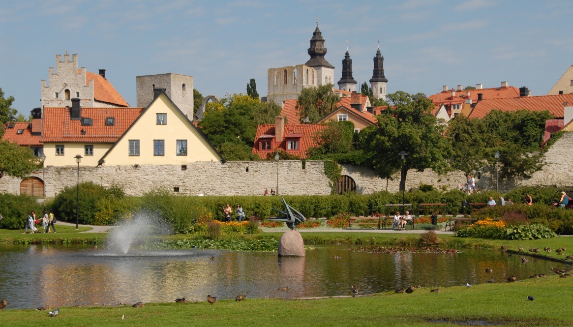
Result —
M154 88L165 89L171 101L193 120L193 76L180 74L157 74L137 76L138 107L146 108L154 99Z

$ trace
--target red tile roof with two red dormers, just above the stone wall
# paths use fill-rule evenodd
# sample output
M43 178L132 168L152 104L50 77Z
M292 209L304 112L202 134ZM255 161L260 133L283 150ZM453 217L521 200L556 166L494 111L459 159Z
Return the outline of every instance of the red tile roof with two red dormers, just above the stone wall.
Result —
M288 101L288 100L287 100ZM316 132L323 130L326 127L324 124L286 124L284 130L284 139L280 144L276 144L274 137L272 141L272 150L270 151L260 151L259 150L259 139L264 138L268 135L275 135L275 125L258 125L257 134L254 137L253 153L260 156L261 159L266 159L269 152L274 153L275 149L282 149L288 153L301 157L304 159L307 157L307 152L309 148L316 147ZM299 139L299 149L297 150L287 150L286 140L289 135L302 134ZM268 139L266 139L268 140Z

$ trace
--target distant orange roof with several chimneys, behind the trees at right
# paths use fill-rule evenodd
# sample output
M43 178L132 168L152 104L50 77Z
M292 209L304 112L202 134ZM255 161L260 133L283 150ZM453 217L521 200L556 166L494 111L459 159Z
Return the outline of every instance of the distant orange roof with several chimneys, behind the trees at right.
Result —
M456 92L456 96L452 97L452 92ZM466 95L469 92L469 97ZM510 98L519 97L519 89L514 86L502 86L500 88L488 88L488 89L475 89L475 90L465 90L457 91L454 89L442 91L440 93L432 94L428 97L434 104L445 104L446 107L452 104L462 104L465 100L471 99L472 103L477 102L477 93L481 93L482 99L499 99L499 98Z

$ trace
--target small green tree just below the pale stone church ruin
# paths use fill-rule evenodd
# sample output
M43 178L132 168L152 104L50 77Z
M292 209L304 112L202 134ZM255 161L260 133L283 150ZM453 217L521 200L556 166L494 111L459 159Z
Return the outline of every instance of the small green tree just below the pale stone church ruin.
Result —
M332 90L332 84L303 88L296 104L301 123L318 123L324 116L336 109L339 99Z

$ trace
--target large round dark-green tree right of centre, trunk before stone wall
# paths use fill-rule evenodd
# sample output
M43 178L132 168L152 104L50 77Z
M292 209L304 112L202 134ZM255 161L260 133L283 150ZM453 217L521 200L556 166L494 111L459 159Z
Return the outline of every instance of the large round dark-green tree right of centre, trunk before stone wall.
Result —
M431 114L431 101L422 93L402 91L388 94L387 99L391 107L378 115L378 126L367 132L363 144L375 173L391 178L401 170L400 190L404 190L410 169L448 171L449 144L442 136L444 125ZM404 161L398 154L401 151L408 153Z

